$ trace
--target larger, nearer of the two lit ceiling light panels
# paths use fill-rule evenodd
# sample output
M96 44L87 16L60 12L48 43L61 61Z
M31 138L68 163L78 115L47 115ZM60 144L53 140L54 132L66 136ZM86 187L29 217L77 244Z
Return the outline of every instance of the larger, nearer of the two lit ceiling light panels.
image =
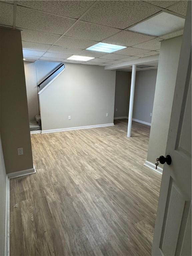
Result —
M98 43L88 47L86 50L110 53L110 52L115 52L124 48L127 48L127 47L121 46L121 45L115 45L115 44Z

